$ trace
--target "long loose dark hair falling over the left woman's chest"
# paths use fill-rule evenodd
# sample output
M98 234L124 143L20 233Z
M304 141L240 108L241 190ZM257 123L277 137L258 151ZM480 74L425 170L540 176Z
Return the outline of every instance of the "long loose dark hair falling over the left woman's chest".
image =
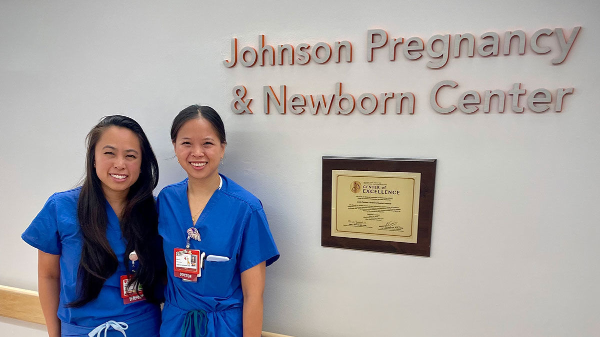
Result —
M77 278L78 298L68 303L69 307L85 305L98 297L104 281L112 276L118 267L118 259L106 238L108 218L106 198L102 183L94 168L95 146L108 128L127 128L136 134L142 148L140 175L131 185L125 201L120 225L126 242L125 266L128 255L136 251L136 271L132 281L139 281L144 296L151 302L158 302L160 288L166 273L162 239L158 236L158 214L152 191L158 183L158 162L148 142L148 137L139 124L131 118L107 116L92 128L86 137L85 178L77 202L77 218L83 236L81 260Z

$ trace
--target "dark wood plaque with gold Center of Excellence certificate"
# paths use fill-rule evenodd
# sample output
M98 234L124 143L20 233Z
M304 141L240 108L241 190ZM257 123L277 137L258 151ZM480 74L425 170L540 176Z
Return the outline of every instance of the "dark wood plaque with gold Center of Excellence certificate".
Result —
M430 256L436 160L323 157L321 245Z

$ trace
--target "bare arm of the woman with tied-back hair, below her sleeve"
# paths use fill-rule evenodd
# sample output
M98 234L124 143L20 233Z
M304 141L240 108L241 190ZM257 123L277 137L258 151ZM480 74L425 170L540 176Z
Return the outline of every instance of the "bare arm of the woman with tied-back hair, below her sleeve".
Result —
M263 293L265 292L265 262L257 264L241 274L244 309L242 326L244 337L260 337L263 318Z

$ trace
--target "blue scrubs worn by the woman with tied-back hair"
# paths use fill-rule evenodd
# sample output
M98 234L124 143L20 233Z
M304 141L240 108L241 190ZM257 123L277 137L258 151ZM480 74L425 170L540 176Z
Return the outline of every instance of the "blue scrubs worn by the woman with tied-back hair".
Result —
M196 222L202 240L190 240L190 249L230 260L205 261L197 282L184 282L173 270L173 249L185 248L186 231L193 226L188 179L166 186L158 194L158 233L163 237L168 279L161 336L181 335L185 315L193 310L206 312L207 336L241 336L244 298L240 274L263 261L269 266L279 258L260 200L226 176L221 179L221 188L212 194Z

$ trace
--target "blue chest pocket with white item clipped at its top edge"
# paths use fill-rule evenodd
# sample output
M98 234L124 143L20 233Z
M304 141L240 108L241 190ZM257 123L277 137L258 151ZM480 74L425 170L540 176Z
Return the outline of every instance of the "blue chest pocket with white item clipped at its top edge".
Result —
M233 286L233 275L237 265L237 259L229 261L204 261L202 279L204 294L212 297L227 297L231 294Z

